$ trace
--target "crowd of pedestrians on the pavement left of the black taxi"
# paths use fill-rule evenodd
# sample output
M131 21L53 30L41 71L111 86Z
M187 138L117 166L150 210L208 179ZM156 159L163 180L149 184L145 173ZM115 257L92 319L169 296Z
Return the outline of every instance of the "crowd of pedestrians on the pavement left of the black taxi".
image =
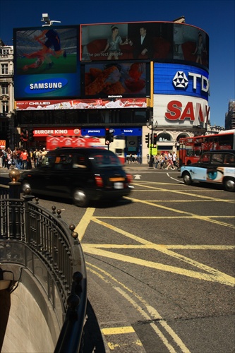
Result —
M32 169L39 167L47 154L47 150L30 150L23 148L3 148L0 149L0 168L7 169Z

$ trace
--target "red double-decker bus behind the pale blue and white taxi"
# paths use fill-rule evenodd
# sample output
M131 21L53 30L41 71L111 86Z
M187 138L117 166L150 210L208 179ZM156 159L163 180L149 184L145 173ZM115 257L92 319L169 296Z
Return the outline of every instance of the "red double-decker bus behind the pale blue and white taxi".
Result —
M198 162L203 152L235 150L235 129L213 135L193 136L179 140L179 165Z

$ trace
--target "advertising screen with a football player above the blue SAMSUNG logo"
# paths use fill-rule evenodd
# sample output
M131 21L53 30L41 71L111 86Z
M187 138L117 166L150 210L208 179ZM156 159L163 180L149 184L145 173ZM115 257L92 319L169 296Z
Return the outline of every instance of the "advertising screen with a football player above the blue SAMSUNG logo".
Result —
M80 95L79 27L13 30L16 100Z

